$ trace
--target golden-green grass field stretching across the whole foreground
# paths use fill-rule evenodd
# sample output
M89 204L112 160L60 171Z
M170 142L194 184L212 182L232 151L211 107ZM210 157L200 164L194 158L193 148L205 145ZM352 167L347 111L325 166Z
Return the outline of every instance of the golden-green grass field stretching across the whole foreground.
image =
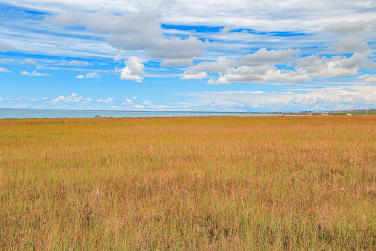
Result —
M376 116L0 120L0 250L375 250Z

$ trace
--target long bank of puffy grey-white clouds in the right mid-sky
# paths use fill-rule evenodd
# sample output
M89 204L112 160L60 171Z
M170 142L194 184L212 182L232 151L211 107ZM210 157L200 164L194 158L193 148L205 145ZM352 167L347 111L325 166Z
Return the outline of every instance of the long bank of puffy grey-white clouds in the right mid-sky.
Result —
M361 36L348 37L334 43L333 49L340 54L352 53L352 56L305 56L296 59L292 55L300 50L266 50L261 48L242 59L228 59L220 56L217 61L202 62L185 70L182 79L204 79L207 73L217 73L207 84L230 84L232 82L283 82L286 84L311 81L313 77L349 77L359 73L362 68L373 63L369 57L373 54ZM288 61L290 60L290 62ZM285 69L276 67L283 62ZM295 69L291 67L295 63Z

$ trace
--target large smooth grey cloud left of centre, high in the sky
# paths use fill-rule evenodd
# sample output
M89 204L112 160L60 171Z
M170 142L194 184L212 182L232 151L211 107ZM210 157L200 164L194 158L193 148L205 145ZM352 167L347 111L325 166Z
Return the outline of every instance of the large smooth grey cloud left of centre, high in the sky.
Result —
M140 8L123 15L107 10L95 13L68 10L46 20L56 26L84 25L88 30L107 36L107 42L119 50L145 50L156 59L187 60L201 55L204 43L194 36L187 39L164 37L159 23L161 17L158 10Z

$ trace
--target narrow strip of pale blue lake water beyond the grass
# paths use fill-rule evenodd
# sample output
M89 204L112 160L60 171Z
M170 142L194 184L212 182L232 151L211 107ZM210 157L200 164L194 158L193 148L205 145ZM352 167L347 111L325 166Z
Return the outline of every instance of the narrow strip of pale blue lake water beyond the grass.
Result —
M0 109L0 119L45 119L45 118L138 118L171 116L278 116L246 112L138 112L138 111L82 111L57 109Z

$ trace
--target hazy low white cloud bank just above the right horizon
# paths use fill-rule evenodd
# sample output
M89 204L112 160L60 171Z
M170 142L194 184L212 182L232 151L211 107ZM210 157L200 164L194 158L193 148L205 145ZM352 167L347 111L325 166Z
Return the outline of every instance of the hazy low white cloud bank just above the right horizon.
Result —
M292 89L293 90L293 89ZM292 91L218 91L187 93L198 98L198 104L228 104L237 106L276 110L331 110L352 109L354 105L372 107L376 102L376 86L334 86L320 89L307 89L306 93ZM233 103L233 104L231 104Z

